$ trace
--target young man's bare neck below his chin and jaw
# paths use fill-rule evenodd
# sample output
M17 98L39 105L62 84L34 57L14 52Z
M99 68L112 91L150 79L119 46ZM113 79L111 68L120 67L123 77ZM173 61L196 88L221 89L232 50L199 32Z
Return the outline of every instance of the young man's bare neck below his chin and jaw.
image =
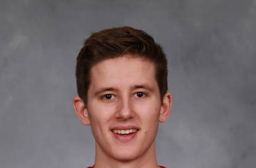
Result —
M113 156L105 153L101 147L95 144L95 164L94 168L157 168L157 159L155 152L155 141L151 146L142 154L138 155L135 159L122 161L114 158Z

